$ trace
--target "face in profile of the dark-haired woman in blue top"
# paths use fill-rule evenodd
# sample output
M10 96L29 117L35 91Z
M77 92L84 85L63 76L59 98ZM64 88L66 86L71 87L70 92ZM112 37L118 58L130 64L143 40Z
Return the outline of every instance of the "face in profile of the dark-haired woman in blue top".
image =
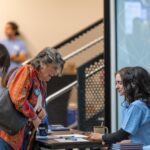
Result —
M120 96L123 96L125 94L122 79L121 79L120 74L118 74L118 73L116 74L116 90L118 91Z

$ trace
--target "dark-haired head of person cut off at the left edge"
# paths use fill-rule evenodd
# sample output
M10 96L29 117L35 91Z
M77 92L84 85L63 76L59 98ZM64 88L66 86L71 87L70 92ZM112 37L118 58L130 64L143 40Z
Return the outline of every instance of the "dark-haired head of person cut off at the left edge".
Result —
M4 85L4 78L10 66L10 56L6 47L0 44L0 77L2 77L1 84ZM1 79L0 79L1 80Z

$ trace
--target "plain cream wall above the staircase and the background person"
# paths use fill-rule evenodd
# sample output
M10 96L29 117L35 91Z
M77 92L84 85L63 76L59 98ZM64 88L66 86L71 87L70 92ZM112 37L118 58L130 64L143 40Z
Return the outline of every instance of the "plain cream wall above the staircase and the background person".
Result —
M103 0L0 0L0 38L15 21L31 55L103 17Z

